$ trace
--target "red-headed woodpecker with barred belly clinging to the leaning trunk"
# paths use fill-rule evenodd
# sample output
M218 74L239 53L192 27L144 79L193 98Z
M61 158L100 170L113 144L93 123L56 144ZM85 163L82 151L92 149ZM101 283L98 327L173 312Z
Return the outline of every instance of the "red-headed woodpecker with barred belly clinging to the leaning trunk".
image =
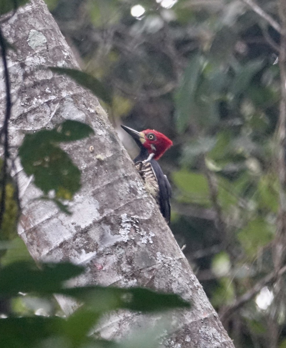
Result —
M145 182L146 190L155 198L162 215L169 224L171 185L166 175L163 174L157 159L173 145L173 142L154 129L137 132L126 126L121 127L133 137L140 148L139 155L134 158L133 162Z

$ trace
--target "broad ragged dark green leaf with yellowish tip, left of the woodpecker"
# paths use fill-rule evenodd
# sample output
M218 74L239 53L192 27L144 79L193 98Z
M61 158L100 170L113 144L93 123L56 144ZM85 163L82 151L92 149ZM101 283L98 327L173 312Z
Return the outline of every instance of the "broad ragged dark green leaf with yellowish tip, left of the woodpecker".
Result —
M91 133L93 130L88 125L67 120L52 130L26 134L19 148L25 173L34 175L35 185L45 194L55 190L57 200L71 200L81 187L80 170L57 142L80 140Z

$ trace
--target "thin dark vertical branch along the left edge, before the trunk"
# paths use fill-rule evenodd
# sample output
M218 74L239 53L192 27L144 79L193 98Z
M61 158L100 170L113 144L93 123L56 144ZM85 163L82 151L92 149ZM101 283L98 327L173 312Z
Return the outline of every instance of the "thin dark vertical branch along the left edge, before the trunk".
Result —
M3 122L3 127L1 129L1 134L4 135L4 159L3 165L1 168L1 200L0 200L0 228L2 226L3 215L5 212L5 199L6 199L6 183L7 183L7 160L9 158L9 133L8 133L8 122L11 116L11 95L10 95L10 79L9 72L7 66L7 58L6 58L6 42L3 37L2 29L0 27L0 47L1 47L1 57L4 66L4 80L6 87L6 111L5 118Z

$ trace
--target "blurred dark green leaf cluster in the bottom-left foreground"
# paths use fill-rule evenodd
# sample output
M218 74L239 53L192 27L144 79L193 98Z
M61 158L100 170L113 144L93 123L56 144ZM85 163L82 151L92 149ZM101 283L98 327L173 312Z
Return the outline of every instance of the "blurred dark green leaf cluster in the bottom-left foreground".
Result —
M49 297L61 294L76 300L79 308L68 318L39 315L0 318L1 346L39 347L54 342L58 347L120 348L124 347L121 343L88 337L99 319L109 311L128 309L151 313L190 307L189 302L178 295L156 293L145 288L71 288L65 285L68 279L79 276L83 270L83 267L71 263L43 263L37 267L32 261L18 261L2 267L0 299L14 298L15 301L29 295ZM138 347L129 344L130 347Z

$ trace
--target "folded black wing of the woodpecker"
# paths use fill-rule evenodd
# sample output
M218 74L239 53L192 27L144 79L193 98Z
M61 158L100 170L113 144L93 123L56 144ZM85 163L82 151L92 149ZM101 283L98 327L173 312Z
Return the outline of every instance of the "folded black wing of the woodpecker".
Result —
M170 198L172 196L171 185L164 175L160 165L155 160L150 160L153 172L156 175L157 182L159 185L159 205L162 215L165 217L167 223L170 223L171 208L170 208Z

